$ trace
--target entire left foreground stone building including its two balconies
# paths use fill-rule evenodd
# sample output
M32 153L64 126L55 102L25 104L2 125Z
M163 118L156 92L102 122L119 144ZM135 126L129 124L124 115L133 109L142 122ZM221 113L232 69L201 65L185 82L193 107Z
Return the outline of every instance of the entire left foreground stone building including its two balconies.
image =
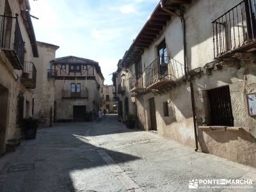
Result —
M0 154L19 143L20 120L33 116L38 57L29 2L0 1Z

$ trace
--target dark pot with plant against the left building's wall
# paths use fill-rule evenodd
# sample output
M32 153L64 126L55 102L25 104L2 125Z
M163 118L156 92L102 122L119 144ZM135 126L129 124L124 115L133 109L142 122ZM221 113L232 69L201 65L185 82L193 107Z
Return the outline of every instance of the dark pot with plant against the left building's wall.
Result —
M38 127L38 120L29 116L28 118L23 118L20 124L24 131L24 138L26 140L31 140L36 138L36 130Z

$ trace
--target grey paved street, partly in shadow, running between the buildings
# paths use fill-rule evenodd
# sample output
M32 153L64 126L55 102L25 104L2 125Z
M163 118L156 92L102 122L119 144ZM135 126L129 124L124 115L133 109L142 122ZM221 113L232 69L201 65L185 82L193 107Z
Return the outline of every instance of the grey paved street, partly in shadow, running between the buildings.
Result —
M189 180L256 178L254 168L195 152L154 132L126 129L115 115L40 129L36 140L22 141L0 159L0 171L3 192L195 191Z

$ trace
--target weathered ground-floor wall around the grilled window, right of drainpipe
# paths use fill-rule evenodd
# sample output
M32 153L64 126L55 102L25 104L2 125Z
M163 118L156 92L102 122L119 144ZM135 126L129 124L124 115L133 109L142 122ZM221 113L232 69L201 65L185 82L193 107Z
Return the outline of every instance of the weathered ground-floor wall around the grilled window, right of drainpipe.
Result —
M204 75L196 79L195 95L198 95L196 97L198 125L202 125L202 119L206 119L206 123L209 119L207 90L228 85L234 126L242 129L237 131L202 131L198 129L198 140L203 152L225 157L238 163L256 166L256 118L248 115L246 99L246 94L256 93L256 66L252 61L242 61L240 65L237 68L237 65L228 62L222 70L215 70L212 75Z

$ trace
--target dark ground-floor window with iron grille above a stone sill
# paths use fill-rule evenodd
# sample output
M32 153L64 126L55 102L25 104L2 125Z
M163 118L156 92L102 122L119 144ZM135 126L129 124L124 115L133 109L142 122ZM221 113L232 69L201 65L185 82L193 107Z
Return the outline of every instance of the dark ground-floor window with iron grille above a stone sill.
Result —
M207 91L210 106L209 125L234 126L229 86Z

